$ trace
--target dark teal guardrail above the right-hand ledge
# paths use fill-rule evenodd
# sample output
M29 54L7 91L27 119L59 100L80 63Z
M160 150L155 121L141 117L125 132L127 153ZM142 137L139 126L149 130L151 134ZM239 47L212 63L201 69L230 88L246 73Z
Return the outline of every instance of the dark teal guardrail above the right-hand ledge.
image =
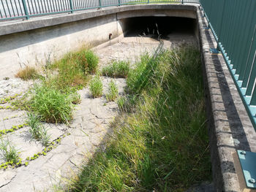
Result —
M200 0L217 50L256 129L256 1Z

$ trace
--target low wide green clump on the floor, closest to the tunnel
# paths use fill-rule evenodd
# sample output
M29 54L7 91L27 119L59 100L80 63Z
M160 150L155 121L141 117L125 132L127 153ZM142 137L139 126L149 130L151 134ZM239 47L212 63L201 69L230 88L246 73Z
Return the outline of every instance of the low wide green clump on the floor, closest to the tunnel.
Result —
M102 75L108 77L127 77L129 73L128 61L113 61L113 64L102 69Z

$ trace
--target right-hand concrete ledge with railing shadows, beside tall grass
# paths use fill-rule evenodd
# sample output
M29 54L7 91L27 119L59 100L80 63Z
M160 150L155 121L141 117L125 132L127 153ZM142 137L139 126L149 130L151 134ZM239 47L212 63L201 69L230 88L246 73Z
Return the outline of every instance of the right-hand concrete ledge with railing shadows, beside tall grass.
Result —
M206 88L208 133L211 163L216 191L250 191L239 174L236 150L256 152L255 129L246 113L236 85L221 54L209 49L217 47L210 30L204 29L206 19L197 9L200 49ZM241 172L240 172L241 173Z

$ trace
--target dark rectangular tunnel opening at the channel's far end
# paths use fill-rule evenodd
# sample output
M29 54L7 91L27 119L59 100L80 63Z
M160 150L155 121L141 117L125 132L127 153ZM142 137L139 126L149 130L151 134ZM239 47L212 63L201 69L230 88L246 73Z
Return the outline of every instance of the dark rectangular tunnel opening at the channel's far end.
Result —
M184 42L187 39L197 40L197 22L192 18L136 17L122 19L121 23L124 37L151 37Z

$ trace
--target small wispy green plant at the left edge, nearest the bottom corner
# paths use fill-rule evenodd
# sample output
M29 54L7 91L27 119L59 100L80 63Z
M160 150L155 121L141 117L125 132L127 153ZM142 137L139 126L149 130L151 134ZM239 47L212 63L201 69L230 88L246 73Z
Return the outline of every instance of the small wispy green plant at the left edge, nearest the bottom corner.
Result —
M1 157L4 159L4 161L12 161L14 164L19 161L18 150L15 148L14 145L12 145L12 143L8 139L1 139L0 152Z

